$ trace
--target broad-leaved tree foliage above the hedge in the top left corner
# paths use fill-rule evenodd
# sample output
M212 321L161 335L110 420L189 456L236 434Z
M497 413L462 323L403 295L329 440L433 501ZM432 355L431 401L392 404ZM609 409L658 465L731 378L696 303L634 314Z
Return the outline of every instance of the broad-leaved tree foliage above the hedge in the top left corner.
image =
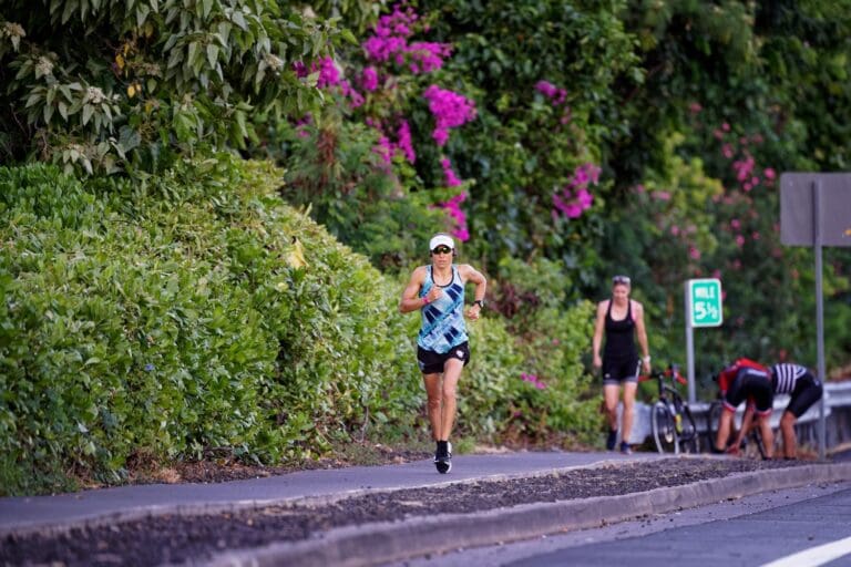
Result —
M329 14L266 0L0 7L0 159L89 173L158 171L204 148L245 147L253 115L318 107L315 78L294 64L351 38ZM341 8L357 22L373 4Z

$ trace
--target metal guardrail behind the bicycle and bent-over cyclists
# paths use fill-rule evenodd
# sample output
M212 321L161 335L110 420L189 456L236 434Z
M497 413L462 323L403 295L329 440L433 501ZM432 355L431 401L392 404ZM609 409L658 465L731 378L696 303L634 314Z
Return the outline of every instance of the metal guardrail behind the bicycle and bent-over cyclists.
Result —
M783 410L789 404L789 395L778 394L775 396L775 411L771 412L771 426L778 427L780 425L780 417L783 414ZM705 433L707 429L706 413L709 411L710 402L695 402L688 404L691 409L691 414L697 422L697 429L700 433ZM832 413L833 408L850 408L851 406L851 380L842 382L826 382L824 383L824 417L827 419ZM619 409L618 409L619 410ZM736 423L741 423L741 417L745 414L745 406L739 406L736 412ZM819 404L814 403L812 408L798 417L798 424L816 423L819 421ZM639 444L653 434L650 430L650 406L644 402L636 402L635 404L635 419L633 421L633 432L629 435L629 443Z

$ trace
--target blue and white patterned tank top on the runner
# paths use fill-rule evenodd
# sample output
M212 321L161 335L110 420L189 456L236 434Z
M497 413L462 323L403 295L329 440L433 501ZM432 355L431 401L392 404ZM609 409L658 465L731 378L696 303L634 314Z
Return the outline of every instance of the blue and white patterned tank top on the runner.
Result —
M427 266L428 277L420 288L420 297L426 297L434 282L431 266ZM444 354L453 347L468 340L464 324L464 284L452 266L452 281L439 286L443 295L421 309L422 327L417 337L417 344L426 350Z

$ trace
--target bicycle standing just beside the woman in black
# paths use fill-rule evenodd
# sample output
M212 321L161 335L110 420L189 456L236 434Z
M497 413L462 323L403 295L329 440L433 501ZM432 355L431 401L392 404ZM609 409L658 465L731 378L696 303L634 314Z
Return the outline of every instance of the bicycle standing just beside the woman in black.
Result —
M691 409L676 389L676 383L685 384L676 364L666 370L640 377L639 381L656 380L659 388L658 400L650 408L650 429L653 441L659 453L697 453L699 440L697 424ZM667 383L670 381L670 383Z

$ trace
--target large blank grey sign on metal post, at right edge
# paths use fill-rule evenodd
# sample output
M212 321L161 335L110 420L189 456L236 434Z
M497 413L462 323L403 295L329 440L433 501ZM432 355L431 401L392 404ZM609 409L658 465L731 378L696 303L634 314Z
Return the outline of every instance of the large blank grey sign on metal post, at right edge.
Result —
M826 379L823 246L851 246L851 174L785 173L780 176L780 241L816 252L816 342L818 378ZM819 401L819 458L826 456L824 396Z

